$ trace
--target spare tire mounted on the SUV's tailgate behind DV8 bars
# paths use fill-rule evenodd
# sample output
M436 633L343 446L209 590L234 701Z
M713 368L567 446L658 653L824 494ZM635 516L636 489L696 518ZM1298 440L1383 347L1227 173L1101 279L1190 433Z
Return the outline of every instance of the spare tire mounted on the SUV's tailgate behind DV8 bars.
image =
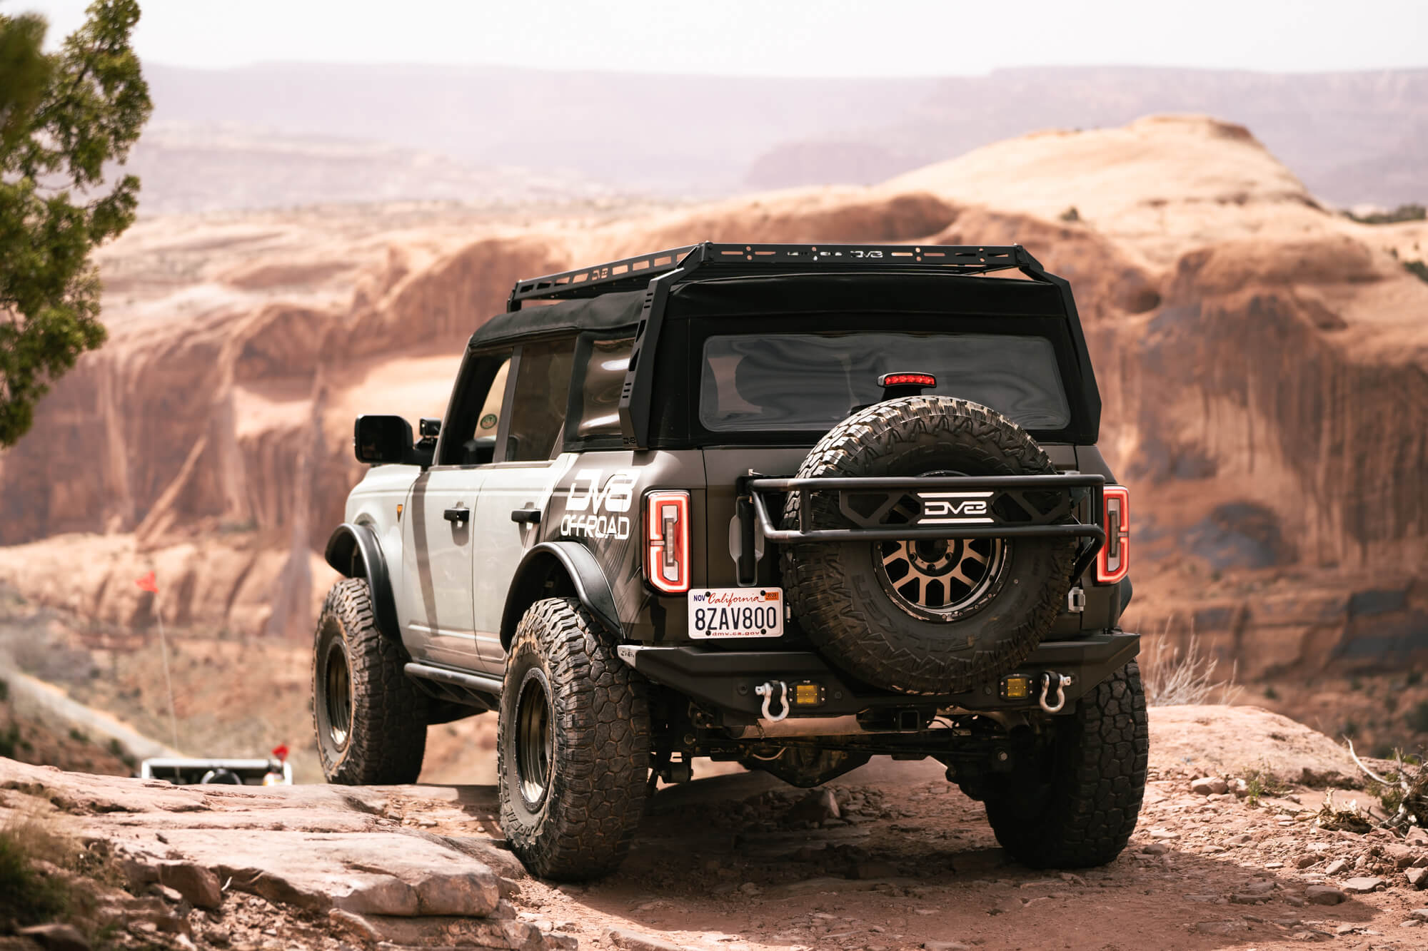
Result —
M798 468L800 478L1051 473L1020 426L942 396L854 413ZM845 524L837 493L810 498L814 525ZM890 521L911 521L915 505L904 500ZM798 514L791 493L784 527ZM790 610L830 661L884 690L960 694L995 681L1041 643L1065 604L1074 558L1071 538L843 541L784 545L781 567Z

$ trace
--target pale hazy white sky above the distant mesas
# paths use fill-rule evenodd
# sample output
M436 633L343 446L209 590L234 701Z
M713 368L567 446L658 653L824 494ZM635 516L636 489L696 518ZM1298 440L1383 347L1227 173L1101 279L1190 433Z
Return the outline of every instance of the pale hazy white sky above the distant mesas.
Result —
M141 0L140 56L488 63L740 76L945 76L1007 66L1428 67L1428 0ZM86 0L39 10L51 39Z

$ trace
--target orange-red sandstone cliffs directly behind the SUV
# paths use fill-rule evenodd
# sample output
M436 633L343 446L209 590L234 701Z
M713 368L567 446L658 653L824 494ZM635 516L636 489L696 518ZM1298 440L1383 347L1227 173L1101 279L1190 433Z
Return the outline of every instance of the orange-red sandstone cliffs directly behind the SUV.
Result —
M1131 620L1194 624L1254 673L1419 655L1428 284L1394 256L1414 227L1322 210L1247 130L1198 117L618 221L146 221L103 254L110 343L0 457L0 581L146 624L130 580L156 567L173 623L303 631L360 474L351 417L440 414L517 277L703 238L1018 241L1087 321L1101 446L1135 491Z

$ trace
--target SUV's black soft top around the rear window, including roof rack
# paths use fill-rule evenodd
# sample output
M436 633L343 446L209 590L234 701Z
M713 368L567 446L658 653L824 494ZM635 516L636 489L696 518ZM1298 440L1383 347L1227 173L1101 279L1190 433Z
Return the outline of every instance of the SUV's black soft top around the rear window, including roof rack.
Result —
M988 277L1020 271L1030 280ZM547 303L548 301L548 303ZM526 303L544 304L524 310ZM481 350L521 338L634 330L620 396L623 444L650 446L650 400L667 318L757 314L955 314L1058 318L1067 383L1080 393L1080 440L1094 443L1101 396L1071 286L1024 247L905 244L691 244L517 281L507 313L471 337ZM1008 327L1010 333L1015 333Z

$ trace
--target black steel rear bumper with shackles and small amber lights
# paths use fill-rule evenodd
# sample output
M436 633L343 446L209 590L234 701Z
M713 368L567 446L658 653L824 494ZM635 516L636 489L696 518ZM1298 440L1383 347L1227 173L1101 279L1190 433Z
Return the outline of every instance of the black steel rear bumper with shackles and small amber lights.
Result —
M1140 653L1140 634L1114 631L1082 637L1074 641L1048 641L1037 647L1031 657L1012 674L1025 674L1032 683L1041 674L1068 674L1065 713L1071 701L1095 688L1114 671ZM937 708L957 707L970 711L1035 710L1037 698L1004 700L1000 681L965 694L922 695L895 694L875 690L835 671L814 651L724 651L704 647L643 647L623 644L621 660L657 684L670 687L690 700L715 710L725 725L753 724L760 718L763 698L755 687L783 681L795 684L813 681L823 687L823 703L815 707L794 708L790 718L847 717L877 708Z

